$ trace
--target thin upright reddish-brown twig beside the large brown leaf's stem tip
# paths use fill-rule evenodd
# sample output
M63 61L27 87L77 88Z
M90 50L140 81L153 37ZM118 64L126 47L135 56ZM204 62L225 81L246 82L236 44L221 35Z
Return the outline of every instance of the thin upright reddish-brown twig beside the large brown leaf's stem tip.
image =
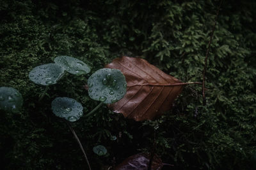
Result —
M219 11L220 11L220 7L221 7L222 3L223 3L223 0L221 0L220 6L219 6L218 11L216 13L214 26L212 27L212 32L211 32L211 38L210 38L210 41L208 43L208 47L207 47L206 55L205 55L205 60L204 60L203 86L202 86L203 104L204 105L206 104L206 100L205 100L205 72L206 72L206 67L207 67L207 60L208 60L209 50L210 50L210 46L211 46L211 43L212 43L212 38L213 38L213 34L214 34L214 31L215 31L215 28L216 28L217 19L218 19L218 15L219 15Z

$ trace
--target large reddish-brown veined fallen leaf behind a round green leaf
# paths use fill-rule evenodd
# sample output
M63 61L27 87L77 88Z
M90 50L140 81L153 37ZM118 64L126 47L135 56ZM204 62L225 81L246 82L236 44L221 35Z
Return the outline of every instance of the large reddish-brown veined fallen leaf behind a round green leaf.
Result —
M125 96L109 108L136 121L152 120L170 110L185 84L140 58L117 58L106 67L120 69L127 81Z

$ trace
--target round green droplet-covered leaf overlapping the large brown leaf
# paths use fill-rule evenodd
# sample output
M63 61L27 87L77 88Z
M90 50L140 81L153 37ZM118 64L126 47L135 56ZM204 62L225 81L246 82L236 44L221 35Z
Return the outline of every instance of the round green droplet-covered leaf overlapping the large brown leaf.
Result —
M115 103L124 97L127 83L119 69L99 69L88 79L88 93L95 101Z

